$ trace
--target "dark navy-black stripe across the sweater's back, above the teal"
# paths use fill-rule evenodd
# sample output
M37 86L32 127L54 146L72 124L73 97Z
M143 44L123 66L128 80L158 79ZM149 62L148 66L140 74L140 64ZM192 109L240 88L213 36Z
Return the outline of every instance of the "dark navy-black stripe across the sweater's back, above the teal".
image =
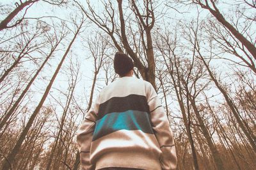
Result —
M142 95L112 97L99 105L98 119L111 112L125 112L129 110L149 113L147 98Z

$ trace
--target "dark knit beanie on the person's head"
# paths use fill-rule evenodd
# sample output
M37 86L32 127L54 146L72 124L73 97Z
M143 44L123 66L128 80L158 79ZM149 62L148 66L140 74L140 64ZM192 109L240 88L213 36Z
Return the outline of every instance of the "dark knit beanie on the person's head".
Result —
M134 65L132 59L122 52L116 52L114 58L115 72L120 76L124 76L126 73L133 69Z

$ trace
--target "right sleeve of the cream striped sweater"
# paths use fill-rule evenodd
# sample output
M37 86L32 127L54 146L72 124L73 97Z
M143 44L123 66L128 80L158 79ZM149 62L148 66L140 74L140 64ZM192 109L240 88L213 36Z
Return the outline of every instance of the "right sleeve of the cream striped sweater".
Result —
M153 86L149 84L147 100L152 128L162 151L160 162L164 170L175 169L177 157L170 123Z

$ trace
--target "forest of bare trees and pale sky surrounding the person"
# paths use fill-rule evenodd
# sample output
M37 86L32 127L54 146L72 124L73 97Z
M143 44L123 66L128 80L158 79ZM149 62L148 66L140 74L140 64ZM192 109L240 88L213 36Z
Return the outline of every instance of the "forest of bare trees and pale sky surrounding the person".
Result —
M255 0L0 2L0 169L81 169L76 130L122 51L177 169L256 167Z

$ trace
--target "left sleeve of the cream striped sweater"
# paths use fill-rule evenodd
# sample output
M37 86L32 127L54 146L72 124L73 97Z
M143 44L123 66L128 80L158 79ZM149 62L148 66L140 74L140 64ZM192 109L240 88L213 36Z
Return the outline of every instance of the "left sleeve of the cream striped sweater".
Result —
M77 148L80 153L80 162L83 169L94 170L95 165L90 162L90 148L92 144L93 132L97 120L97 114L99 111L99 96L96 98L92 107L78 127L77 130Z

